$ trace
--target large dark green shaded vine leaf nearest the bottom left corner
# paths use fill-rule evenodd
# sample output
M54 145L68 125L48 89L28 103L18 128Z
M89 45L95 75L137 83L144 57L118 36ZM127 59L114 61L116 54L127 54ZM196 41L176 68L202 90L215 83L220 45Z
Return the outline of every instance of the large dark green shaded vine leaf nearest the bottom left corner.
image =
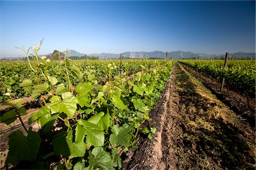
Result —
M9 135L9 155L16 159L34 161L41 142L40 135L32 131L31 128L28 130L27 137L23 135L22 131L15 131ZM15 159L9 159L9 163L13 162L15 163Z

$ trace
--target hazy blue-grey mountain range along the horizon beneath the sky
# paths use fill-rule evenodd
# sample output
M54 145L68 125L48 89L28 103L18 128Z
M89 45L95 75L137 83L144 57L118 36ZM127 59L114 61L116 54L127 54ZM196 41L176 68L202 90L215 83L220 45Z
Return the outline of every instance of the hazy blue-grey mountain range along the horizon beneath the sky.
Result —
M130 57L130 58L166 58L166 53L161 51L154 51L154 52L123 52L119 54L113 54L113 53L93 53L93 54L87 54L87 56L94 56L99 57L100 59L105 58L119 58L120 54L122 54L123 57ZM85 54L79 53L76 50L71 50L71 53L68 53L67 57L71 56L84 56ZM233 56L234 58L255 58L255 53L245 53L245 52L238 52L238 53L229 53L229 56ZM176 51L176 52L169 52L168 58L172 59L183 59L183 58L221 58L225 57L225 54L219 55L219 54L205 54L205 53L194 53L194 52L183 52L183 51Z

